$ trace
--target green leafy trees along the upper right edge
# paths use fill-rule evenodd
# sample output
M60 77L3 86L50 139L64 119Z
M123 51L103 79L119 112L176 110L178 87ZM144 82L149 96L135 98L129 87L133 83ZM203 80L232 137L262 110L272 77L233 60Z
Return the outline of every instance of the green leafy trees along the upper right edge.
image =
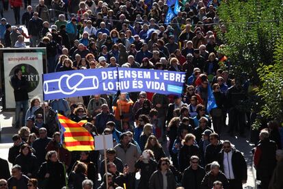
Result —
M258 86L252 107L262 119L283 122L283 1L222 1L219 17L227 28L221 40L231 61L230 72L247 73ZM258 119L254 128L260 126Z

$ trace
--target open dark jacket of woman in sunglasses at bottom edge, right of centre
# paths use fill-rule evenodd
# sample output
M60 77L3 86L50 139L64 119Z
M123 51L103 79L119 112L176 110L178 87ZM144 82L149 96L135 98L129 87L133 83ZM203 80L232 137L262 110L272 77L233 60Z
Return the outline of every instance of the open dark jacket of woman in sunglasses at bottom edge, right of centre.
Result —
M172 171L167 170L167 189L175 189L176 188L176 181ZM163 175L161 171L155 171L152 173L149 181L149 188L150 189L160 189L163 188Z

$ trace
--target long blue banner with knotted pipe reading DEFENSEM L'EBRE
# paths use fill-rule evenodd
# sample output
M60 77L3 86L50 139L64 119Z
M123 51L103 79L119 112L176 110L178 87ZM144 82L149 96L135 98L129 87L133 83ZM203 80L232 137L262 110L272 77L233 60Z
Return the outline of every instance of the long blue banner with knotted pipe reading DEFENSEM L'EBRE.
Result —
M121 92L180 95L185 73L139 68L98 68L43 75L44 100Z

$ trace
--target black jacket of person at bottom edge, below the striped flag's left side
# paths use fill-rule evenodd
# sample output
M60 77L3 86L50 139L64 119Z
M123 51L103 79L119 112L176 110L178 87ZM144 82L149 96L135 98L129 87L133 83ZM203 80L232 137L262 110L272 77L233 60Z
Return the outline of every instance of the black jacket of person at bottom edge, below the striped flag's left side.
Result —
M62 162L44 162L38 171L38 179L44 179L46 173L49 173L49 178L46 179L46 188L61 189L63 186L66 186Z

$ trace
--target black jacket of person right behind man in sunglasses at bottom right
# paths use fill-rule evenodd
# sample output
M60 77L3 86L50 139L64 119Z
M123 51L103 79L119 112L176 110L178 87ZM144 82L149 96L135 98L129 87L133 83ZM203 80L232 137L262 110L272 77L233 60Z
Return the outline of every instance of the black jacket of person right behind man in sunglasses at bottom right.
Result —
M185 144L181 147L178 158L180 171L183 172L185 168L189 167L189 159L192 155L198 155L198 147L196 145L187 146Z

